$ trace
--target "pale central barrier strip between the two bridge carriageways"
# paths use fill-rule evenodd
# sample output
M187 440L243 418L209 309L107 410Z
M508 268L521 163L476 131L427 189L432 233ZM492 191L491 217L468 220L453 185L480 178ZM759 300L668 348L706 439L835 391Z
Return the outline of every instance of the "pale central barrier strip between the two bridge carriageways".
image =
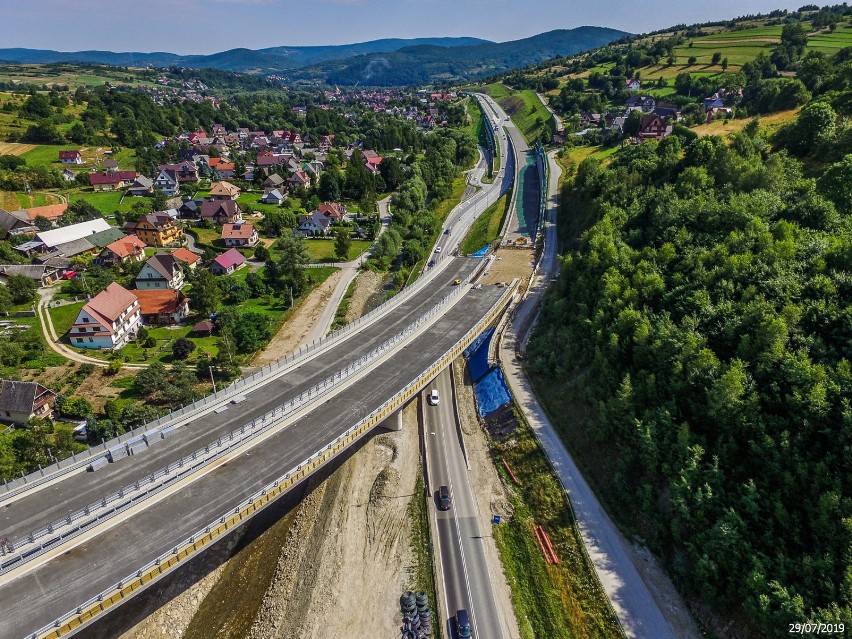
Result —
M465 287L463 286L454 288L448 295L444 296L437 304L417 318L417 320L406 326L402 331L385 340L366 355L362 355L354 363L347 365L346 368L338 370L307 391L304 391L298 398L274 408L265 415L223 435L216 441L186 455L177 462L168 464L165 468L150 474L143 480L124 486L117 492L93 504L89 504L84 509L72 513L59 521L55 521L46 528L30 533L24 539L18 539L12 543L5 544L4 548L0 550L0 575L18 568L59 544L83 534L117 514L140 504L153 495L175 485L178 481L208 466L235 448L277 427L284 419L313 403L318 397L325 395L329 389L340 385L358 374L366 366L383 357L389 350L392 350L399 343L405 341L439 313L444 306L458 298L464 289ZM103 460L108 457L111 462L119 461L124 457L138 454L138 452L146 449L149 445L155 445L165 436L165 431L148 431L121 446L109 449L107 454L99 459ZM103 463L101 461L101 465ZM93 470L95 469L93 468Z

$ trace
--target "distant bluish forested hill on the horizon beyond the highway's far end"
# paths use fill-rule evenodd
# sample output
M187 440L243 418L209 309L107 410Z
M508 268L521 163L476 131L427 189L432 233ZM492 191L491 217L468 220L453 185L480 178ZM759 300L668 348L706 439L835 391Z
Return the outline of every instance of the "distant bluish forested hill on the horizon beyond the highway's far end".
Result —
M512 42L467 47L405 47L393 53L371 54L306 67L294 78L328 84L402 86L441 81L472 80L556 56L588 51L629 34L604 27L578 27L541 33Z

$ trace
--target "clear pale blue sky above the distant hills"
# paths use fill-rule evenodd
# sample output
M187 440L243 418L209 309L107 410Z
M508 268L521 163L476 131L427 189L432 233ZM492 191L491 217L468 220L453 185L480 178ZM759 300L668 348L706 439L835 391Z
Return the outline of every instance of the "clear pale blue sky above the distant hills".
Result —
M0 48L213 53L387 37L505 41L599 25L631 32L804 0L0 0Z

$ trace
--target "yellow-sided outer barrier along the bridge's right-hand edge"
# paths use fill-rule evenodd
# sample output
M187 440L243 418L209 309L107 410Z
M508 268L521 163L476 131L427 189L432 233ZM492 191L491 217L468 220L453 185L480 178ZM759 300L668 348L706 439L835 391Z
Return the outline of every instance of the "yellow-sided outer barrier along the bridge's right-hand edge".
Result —
M516 288L517 280L513 281L507 287L506 292L500 296L500 299L494 303L476 326L470 329L464 337L456 342L450 350L438 358L423 373L418 375L414 381L407 384L402 390L373 411L371 415L360 420L333 442L308 457L308 459L299 464L295 469L285 473L271 484L254 493L233 510L228 511L227 514L212 521L196 534L174 546L169 552L160 555L154 561L149 562L114 586L104 590L98 596L89 599L76 610L63 615L54 623L27 635L27 639L58 639L76 632L82 626L99 617L102 613L121 603L124 599L133 596L138 590L145 588L168 572L171 572L177 566L181 565L181 562L193 557L220 537L239 527L259 510L268 506L290 488L306 479L328 461L361 439L361 437L375 426L381 424L388 416L402 408L435 375L461 355L462 351L473 342L480 332L500 317L500 314L514 295Z

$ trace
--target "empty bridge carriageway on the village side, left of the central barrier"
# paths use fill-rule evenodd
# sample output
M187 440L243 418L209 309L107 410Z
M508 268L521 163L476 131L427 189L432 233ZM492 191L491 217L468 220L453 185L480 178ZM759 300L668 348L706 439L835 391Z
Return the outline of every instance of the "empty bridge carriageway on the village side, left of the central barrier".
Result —
M70 513L82 510L124 486L148 477L167 464L203 448L208 442L239 428L272 408L298 397L299 393L345 368L361 355L398 333L431 308L452 289L451 282L467 277L478 260L457 258L433 285L412 294L387 316L365 327L355 338L345 340L296 370L246 394L246 401L229 406L222 413L208 412L180 427L167 441L155 444L139 455L108 464L97 472L79 472L41 490L24 494L0 510L0 538L14 541L45 528ZM2 636L2 635L0 635Z

